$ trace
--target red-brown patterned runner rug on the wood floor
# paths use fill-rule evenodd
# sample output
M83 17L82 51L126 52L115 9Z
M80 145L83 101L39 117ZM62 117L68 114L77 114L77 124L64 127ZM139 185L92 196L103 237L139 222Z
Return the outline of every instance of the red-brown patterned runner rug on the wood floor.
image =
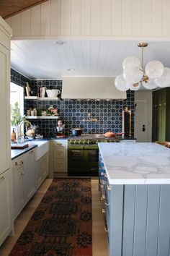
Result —
M53 179L10 256L92 256L91 179Z

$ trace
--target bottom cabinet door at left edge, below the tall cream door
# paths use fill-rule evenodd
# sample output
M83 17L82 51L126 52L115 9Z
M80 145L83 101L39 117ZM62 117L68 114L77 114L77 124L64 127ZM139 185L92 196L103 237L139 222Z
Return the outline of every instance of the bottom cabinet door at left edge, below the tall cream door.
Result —
M0 246L12 230L11 170L0 175Z

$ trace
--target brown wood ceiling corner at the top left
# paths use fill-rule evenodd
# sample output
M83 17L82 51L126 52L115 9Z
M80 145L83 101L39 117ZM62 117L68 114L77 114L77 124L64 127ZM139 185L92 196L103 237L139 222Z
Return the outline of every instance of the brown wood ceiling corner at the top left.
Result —
M11 17L44 1L48 0L0 0L0 16L4 19Z

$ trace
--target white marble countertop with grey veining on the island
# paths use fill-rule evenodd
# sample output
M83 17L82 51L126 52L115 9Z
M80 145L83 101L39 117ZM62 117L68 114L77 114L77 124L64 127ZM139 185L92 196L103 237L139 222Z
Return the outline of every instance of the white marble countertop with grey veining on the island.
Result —
M99 143L109 184L170 184L170 148L156 143Z

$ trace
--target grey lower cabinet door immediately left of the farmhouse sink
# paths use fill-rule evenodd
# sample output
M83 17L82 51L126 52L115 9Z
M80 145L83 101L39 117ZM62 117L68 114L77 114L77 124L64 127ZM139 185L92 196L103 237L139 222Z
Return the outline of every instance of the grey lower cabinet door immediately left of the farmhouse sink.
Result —
M30 150L26 155L25 170L25 200L30 200L35 193L35 150Z

